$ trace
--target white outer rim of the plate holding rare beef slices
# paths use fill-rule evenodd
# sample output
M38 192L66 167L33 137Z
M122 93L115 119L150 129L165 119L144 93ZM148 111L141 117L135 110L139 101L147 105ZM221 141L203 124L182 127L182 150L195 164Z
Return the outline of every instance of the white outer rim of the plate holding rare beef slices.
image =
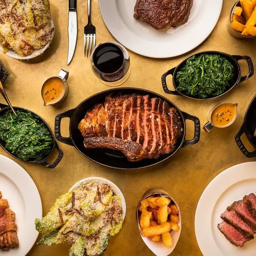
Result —
M254 168L254 172L251 172L250 168ZM236 184L237 182L240 182L249 178L256 179L255 168L256 168L256 162L245 162L245 163L240 163L240 164L231 166L225 171L221 172L219 175L217 175L207 185L204 192L202 193L195 211L194 226L195 226L196 240L204 256L209 256L209 255L225 256L223 252L219 249L218 245L215 243L214 237L211 232L212 211L218 199L220 198L219 194L222 195L223 192L225 192L228 188L230 188L232 185ZM216 192L216 185L218 187L218 190L217 190L218 192ZM206 202L211 202L211 203L208 204L207 207L204 207L206 205ZM202 209L204 209L205 211L203 212ZM202 212L207 219L207 221L204 223L202 223L202 219L203 219ZM206 240L208 241L208 243L205 243ZM212 242L210 243L209 241L212 241Z

